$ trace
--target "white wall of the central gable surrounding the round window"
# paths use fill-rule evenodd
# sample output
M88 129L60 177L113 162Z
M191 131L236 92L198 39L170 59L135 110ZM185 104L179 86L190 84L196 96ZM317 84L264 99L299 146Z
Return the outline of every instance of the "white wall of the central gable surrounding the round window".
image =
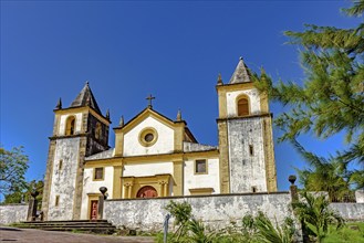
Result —
M139 142L139 133L146 127L153 127L158 133L157 141L150 147ZM124 156L169 154L174 151L174 137L170 127L149 116L124 135Z

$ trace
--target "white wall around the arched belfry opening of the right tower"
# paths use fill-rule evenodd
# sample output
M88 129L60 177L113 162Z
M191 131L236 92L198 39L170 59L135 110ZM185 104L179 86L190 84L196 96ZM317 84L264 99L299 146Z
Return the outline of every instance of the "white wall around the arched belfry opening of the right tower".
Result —
M256 115L260 113L260 96L257 88L247 89L247 91L227 92L226 98L227 98L228 117L238 115L237 97L241 94L245 94L249 97L251 115Z

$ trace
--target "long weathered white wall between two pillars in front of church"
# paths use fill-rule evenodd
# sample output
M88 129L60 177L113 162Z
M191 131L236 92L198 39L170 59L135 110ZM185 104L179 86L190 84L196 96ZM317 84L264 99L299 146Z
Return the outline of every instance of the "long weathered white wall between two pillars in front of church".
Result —
M274 192L106 200L104 219L117 228L160 231L167 214L165 207L170 200L187 201L194 216L214 229L228 226L231 222L239 223L242 216L256 215L258 211L278 222L292 216L289 192Z

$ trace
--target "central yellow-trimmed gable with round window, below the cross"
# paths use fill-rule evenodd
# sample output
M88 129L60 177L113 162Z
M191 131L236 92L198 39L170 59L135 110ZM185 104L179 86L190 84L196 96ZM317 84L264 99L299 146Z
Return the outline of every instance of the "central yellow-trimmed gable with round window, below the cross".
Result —
M115 155L148 156L183 151L184 141L196 142L194 135L181 119L180 112L177 120L147 107L126 124L115 130Z

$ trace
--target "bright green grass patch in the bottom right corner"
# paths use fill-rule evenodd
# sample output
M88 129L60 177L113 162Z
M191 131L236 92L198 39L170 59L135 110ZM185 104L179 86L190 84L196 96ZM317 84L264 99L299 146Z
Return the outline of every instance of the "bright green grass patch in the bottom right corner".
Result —
M324 243L364 243L364 222L346 223L346 225L341 230L330 226L329 231L330 233L324 239Z

